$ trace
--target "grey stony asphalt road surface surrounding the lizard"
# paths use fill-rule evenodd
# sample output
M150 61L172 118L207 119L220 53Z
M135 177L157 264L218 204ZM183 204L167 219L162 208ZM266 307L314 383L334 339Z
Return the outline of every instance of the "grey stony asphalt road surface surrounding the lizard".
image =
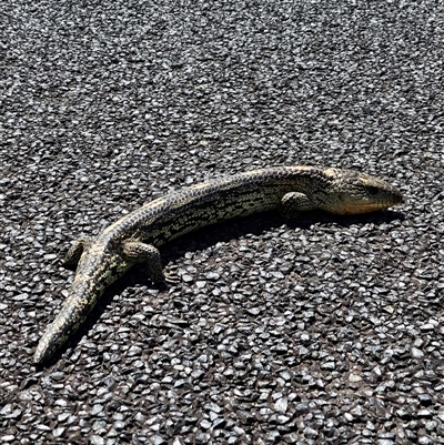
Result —
M0 443L444 443L442 2L3 0L0 32ZM408 202L188 235L31 364L72 240L284 164Z

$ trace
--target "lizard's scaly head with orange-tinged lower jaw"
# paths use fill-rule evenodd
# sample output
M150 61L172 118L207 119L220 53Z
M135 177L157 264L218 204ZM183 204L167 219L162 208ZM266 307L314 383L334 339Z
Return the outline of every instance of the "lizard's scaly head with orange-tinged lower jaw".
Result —
M320 209L336 214L369 213L403 202L389 182L353 170L326 169L330 186Z

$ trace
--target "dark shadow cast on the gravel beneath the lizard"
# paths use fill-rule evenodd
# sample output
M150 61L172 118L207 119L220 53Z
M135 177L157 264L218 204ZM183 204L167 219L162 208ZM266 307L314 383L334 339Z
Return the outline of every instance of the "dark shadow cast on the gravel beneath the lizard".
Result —
M404 219L405 215L403 213L392 210L346 216L314 211L304 214L301 219L291 220L284 219L273 212L261 213L260 215L250 215L202 227L198 232L185 234L165 244L161 247L162 263L168 264L170 262L175 262L188 252L202 251L219 242L229 242L245 235L261 235L283 224L285 224L289 230L310 229L311 225L315 223L323 225L336 224L342 227L349 227L353 224L373 223L377 226L391 221L402 221ZM196 233L199 236L196 236ZM147 266L144 264L137 264L115 283L111 284L88 315L84 324L56 352L53 357L50 358L44 366L57 363L68 348L75 348L82 337L98 323L114 296L121 294L128 287L149 284L151 289L157 289L159 291L165 291L168 289L168 284L150 284L145 269Z

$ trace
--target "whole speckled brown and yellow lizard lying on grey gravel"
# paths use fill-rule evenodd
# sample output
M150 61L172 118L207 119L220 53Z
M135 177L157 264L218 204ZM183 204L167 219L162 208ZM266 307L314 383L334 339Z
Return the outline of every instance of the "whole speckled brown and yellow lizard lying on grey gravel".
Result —
M151 280L161 282L157 247L184 233L270 210L280 210L290 218L315 209L356 214L402 201L398 190L377 178L312 166L255 170L151 201L70 249L65 262L78 263L75 277L61 311L41 337L33 361L48 361L84 322L107 286L133 264L145 262Z

